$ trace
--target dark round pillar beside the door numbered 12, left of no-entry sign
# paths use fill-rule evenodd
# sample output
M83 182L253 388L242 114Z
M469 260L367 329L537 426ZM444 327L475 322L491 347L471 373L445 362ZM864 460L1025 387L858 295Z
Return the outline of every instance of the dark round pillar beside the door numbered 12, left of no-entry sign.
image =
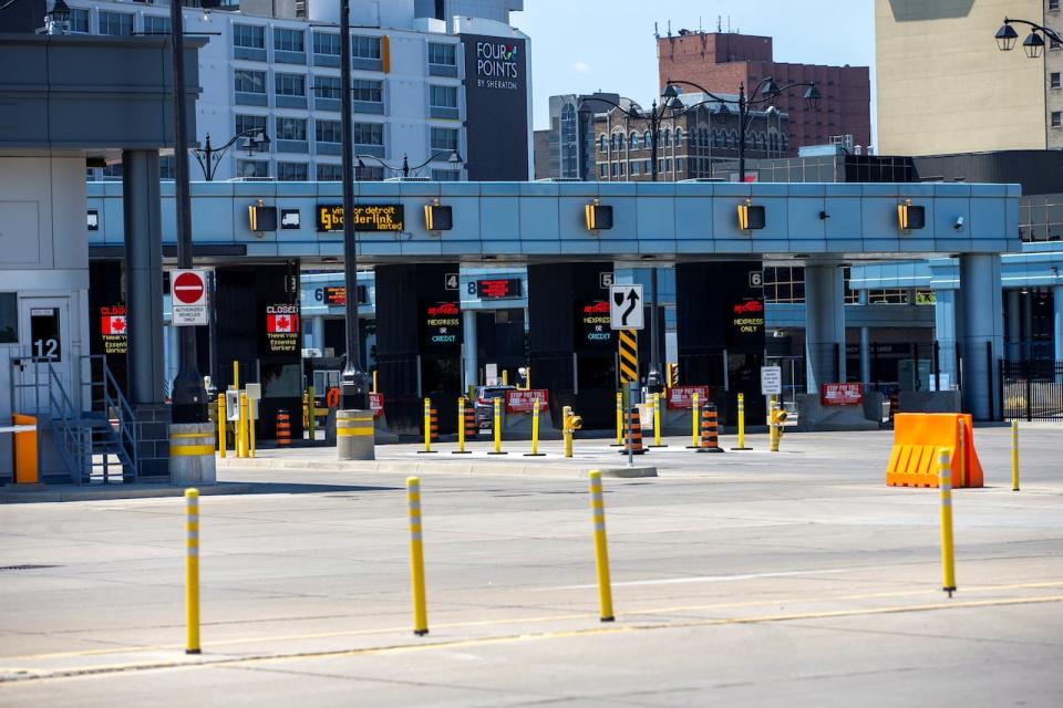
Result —
M163 402L163 232L158 152L122 153L130 399Z

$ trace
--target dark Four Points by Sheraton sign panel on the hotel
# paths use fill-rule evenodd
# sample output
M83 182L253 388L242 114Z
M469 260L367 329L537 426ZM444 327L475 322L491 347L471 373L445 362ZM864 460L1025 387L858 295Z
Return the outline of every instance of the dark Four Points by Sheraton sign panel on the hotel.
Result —
M527 181L528 56L525 41L463 34L465 162L473 181Z

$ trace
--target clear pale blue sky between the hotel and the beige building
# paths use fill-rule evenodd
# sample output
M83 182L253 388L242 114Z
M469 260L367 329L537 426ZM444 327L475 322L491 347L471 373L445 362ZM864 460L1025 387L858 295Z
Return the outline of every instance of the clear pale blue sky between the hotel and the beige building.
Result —
M775 61L875 63L873 0L525 0L513 23L532 37L536 129L548 127L548 98L616 91L649 105L657 93L653 23L733 30L774 38ZM871 74L874 83L874 71ZM871 118L874 123L874 86Z

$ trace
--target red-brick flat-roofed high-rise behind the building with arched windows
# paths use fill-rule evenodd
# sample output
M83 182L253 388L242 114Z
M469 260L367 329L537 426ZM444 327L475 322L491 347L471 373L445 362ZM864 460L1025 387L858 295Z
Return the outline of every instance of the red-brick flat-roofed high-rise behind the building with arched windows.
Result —
M815 82L823 94L818 111L805 106L804 90L793 88L775 105L789 114L791 155L803 145L825 145L852 135L854 145L871 142L871 82L867 66L824 66L776 62L772 38L730 32L691 32L658 38L661 90L669 79L692 81L714 93L737 94L771 76L780 86ZM683 91L696 91L683 86Z

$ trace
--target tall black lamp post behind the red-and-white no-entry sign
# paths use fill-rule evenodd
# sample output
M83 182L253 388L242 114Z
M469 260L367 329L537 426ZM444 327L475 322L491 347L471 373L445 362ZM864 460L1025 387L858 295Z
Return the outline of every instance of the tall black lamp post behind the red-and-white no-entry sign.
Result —
M192 268L192 199L188 188L188 133L185 96L184 3L169 3L174 75L174 196L177 212L177 268ZM173 421L206 423L207 392L196 365L196 327L177 330L178 368L172 391Z

